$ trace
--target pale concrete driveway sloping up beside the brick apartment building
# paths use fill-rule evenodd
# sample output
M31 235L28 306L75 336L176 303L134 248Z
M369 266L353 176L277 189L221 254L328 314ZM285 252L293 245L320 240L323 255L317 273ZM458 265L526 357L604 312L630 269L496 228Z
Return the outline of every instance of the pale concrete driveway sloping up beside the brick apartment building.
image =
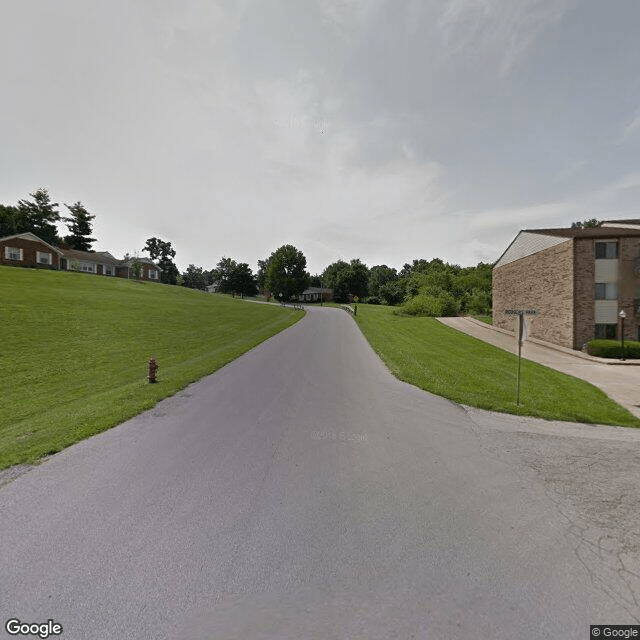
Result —
M438 318L449 327L500 349L518 353L515 335L474 318ZM573 351L541 340L527 340L522 345L522 357L556 371L581 378L602 389L612 400L640 418L640 364L638 360L605 360L581 351Z

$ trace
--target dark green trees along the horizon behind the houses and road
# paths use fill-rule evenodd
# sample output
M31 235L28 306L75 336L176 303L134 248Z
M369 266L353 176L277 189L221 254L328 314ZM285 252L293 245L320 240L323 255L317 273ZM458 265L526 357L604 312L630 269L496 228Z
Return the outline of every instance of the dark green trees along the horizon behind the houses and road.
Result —
M65 249L93 251L95 215L82 202L64 205L68 215L61 216L59 204L48 191L38 189L30 199L16 205L0 205L0 237L30 231L45 242ZM69 233L58 235L57 224L64 222ZM593 221L596 222L596 221ZM582 223L585 226L592 221ZM284 301L300 295L309 286L333 290L336 302L357 298L370 304L399 306L402 311L419 315L484 314L491 311L492 265L480 262L475 267L444 263L439 258L416 259L400 271L387 265L368 267L360 259L337 260L321 274L307 271L307 260L293 245L283 245L263 260L256 273L246 262L223 256L210 270L190 264L180 273L175 265L171 242L149 238L142 249L160 267L160 281L192 289L216 285L220 293L255 296L271 292ZM125 259L130 259L128 254ZM133 258L135 261L135 258Z

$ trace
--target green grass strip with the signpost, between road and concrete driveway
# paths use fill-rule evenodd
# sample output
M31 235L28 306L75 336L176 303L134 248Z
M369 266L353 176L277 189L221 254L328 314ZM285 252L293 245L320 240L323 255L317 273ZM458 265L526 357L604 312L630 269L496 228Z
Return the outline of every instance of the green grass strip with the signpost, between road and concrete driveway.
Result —
M525 359L517 406L517 356L435 318L359 304L356 321L396 377L455 402L554 420L640 426L593 385Z

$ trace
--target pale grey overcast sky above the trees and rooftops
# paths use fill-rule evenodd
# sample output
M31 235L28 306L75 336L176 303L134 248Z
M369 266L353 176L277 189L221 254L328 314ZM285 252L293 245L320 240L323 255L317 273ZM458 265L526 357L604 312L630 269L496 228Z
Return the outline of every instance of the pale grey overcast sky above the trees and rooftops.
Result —
M637 0L6 0L0 202L181 270L493 262L640 217Z

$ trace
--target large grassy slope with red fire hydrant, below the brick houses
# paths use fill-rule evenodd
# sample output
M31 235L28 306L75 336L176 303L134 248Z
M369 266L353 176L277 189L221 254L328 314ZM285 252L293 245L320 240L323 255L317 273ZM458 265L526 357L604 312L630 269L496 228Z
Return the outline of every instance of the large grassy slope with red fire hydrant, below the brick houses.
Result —
M0 267L0 469L123 422L302 315L150 282ZM146 379L151 356L157 384Z

